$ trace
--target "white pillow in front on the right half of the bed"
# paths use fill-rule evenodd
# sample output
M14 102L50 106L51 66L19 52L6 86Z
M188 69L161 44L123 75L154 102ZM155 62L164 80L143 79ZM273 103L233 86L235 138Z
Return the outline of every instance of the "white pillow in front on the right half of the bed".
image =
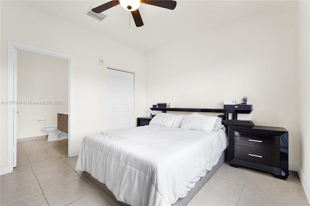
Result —
M197 130L202 132L212 132L214 129L219 130L218 122L221 122L221 119L218 117L210 117L198 114L188 115L183 119L181 123L181 129L186 130ZM215 127L217 123L217 126Z

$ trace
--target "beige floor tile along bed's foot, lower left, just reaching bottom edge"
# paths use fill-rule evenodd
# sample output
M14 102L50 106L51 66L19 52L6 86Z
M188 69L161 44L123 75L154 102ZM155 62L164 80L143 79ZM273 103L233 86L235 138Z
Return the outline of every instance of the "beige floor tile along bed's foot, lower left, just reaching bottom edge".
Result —
M47 203L50 206L64 206L82 197L85 197L95 190L82 178L70 182L61 187L45 192Z

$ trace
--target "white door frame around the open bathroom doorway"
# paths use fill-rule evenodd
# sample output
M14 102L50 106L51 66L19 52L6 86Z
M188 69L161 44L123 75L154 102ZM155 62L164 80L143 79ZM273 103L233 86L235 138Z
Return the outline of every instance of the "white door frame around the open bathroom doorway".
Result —
M73 57L70 55L62 54L59 52L39 48L27 44L21 44L13 41L8 41L7 44L7 101L13 104L7 105L7 138L6 138L6 165L1 166L1 175L7 174L13 171L14 165L16 165L16 145L17 145L17 49L24 49L32 52L46 54L54 57L68 59L68 73L69 73L69 110L68 113L72 114L72 86L73 86ZM70 147L72 144L72 138L70 138L71 131L71 118L68 118L68 155L72 156L73 151ZM5 148L5 147L4 147Z

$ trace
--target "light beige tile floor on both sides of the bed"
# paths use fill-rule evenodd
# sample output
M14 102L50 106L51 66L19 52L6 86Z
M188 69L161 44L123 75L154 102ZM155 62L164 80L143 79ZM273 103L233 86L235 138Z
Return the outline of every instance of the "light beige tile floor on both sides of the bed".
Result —
M20 143L18 151L24 151L28 162L17 152L18 167L0 177L0 205L119 206L82 173L75 171L78 157L61 157L64 152L59 147L65 150L65 145L65 142L50 144L46 140ZM46 149L49 146L53 149ZM38 151L33 152L35 150ZM309 206L309 202L296 172L290 171L290 176L281 180L267 173L224 163L188 205Z

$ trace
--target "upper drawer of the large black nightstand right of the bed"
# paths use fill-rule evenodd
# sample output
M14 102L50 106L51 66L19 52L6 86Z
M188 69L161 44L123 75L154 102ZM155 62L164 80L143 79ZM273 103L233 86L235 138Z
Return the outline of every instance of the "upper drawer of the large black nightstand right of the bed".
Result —
M280 139L279 136L234 131L234 144L258 149L279 151Z

